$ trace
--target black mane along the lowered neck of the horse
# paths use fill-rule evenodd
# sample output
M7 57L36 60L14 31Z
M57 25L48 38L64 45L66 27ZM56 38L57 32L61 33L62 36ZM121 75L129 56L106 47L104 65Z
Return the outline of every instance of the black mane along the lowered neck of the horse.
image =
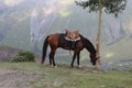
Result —
M96 52L96 48L95 48L94 44L92 44L88 38L86 38L86 37L82 36L81 34L80 34L80 38L81 38L81 41L82 41L84 46L85 46L90 53L95 53L95 52Z

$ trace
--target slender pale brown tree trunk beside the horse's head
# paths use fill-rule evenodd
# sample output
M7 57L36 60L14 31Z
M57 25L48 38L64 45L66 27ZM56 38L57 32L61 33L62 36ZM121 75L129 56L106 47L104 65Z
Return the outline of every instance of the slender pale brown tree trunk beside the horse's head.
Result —
M98 19L98 32L97 32L97 54L96 56L100 56L100 35L101 35L101 16L102 16L102 8L101 0L99 0L99 19ZM100 59L97 61L97 68L99 68Z

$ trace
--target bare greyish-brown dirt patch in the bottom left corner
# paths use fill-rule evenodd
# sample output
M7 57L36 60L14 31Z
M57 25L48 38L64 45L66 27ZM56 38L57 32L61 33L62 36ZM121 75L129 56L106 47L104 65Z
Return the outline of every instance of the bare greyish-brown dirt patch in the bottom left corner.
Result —
M32 88L34 74L15 69L0 68L0 88Z

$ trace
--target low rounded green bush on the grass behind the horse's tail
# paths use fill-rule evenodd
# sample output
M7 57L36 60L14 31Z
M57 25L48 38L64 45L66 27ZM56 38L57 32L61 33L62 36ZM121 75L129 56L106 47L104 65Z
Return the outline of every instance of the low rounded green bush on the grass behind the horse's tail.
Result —
M12 56L11 62L34 62L35 54L32 52L19 52L16 55Z

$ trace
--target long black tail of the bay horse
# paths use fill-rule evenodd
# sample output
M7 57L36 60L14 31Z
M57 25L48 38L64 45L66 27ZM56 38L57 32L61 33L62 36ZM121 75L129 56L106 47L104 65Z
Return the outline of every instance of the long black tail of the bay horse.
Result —
M48 46L48 36L45 38L44 44L43 44L43 50L42 50L42 62L41 64L43 64L45 62L45 57L46 57L46 51L47 51L47 46Z

